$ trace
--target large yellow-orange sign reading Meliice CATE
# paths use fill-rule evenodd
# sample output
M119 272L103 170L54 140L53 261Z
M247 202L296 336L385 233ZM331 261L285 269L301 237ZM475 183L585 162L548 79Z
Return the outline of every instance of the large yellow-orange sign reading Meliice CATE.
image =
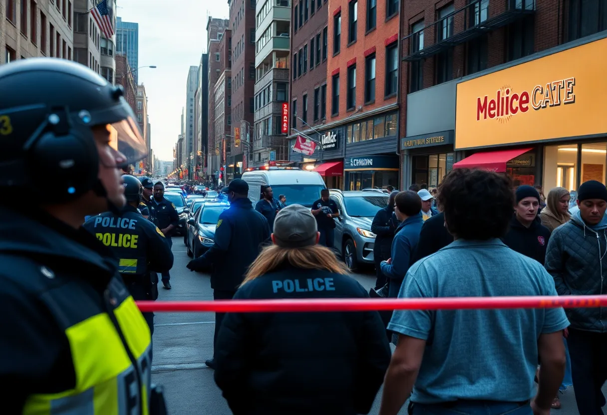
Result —
M607 133L607 38L457 86L458 150Z

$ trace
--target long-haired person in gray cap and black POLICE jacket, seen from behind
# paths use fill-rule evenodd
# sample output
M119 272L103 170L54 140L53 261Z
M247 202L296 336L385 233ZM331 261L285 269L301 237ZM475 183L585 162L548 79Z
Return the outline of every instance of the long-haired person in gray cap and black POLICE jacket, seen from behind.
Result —
M234 296L367 298L319 240L309 208L291 204ZM235 415L367 414L390 363L376 311L228 313L215 382Z

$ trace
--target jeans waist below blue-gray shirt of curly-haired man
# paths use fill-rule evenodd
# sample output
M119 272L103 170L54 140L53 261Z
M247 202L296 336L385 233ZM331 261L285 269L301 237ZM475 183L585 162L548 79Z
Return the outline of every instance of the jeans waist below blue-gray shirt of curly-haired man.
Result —
M529 402L494 402L490 400L458 400L457 402L426 405L413 403L409 406L413 415L532 415Z

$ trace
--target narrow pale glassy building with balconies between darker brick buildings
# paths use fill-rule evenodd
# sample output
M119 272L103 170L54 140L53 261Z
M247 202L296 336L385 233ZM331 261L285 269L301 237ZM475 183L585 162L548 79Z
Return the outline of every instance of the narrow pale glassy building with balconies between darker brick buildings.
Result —
M282 107L289 86L290 0L259 0L256 4L253 166L288 161ZM253 35L253 32L251 33Z

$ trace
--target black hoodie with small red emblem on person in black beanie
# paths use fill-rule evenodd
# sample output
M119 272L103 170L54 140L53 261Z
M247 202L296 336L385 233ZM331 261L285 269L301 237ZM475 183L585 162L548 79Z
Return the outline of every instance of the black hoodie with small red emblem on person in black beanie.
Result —
M534 258L541 265L546 261L546 248L550 231L541 224L540 217L535 217L529 228L521 224L516 215L510 220L510 230L502 239L510 249L519 252L529 258Z

